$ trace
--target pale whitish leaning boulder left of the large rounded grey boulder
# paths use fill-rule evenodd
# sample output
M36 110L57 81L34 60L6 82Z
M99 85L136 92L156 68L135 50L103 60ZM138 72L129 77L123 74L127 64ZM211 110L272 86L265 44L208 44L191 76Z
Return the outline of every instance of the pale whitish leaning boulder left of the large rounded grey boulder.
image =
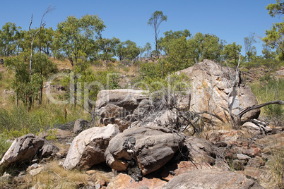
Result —
M74 138L64 161L64 168L88 169L105 161L105 150L110 139L119 133L115 125L94 127L81 132Z

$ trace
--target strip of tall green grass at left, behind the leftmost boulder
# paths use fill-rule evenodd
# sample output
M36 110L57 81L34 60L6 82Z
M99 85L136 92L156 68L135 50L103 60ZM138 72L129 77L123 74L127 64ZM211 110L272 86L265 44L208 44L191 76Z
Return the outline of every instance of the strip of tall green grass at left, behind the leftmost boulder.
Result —
M67 109L66 118L64 106ZM0 133L6 138L17 138L28 133L38 134L55 124L63 124L78 118L88 120L88 115L81 108L71 108L71 105L48 104L31 111L27 111L22 105L18 107L12 105L0 109ZM52 138L56 131L50 132L48 134Z

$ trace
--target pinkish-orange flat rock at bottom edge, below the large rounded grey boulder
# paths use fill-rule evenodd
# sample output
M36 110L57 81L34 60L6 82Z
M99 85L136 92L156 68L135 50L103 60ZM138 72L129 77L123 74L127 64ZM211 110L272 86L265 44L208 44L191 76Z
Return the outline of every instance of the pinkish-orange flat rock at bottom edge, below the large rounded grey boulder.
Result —
M159 178L146 178L146 177L143 177L142 181L136 182L134 181L133 178L131 178L131 176L126 175L124 173L119 173L119 175L117 175L112 179L112 181L110 181L110 183L107 185L107 188L136 189L136 188L141 188L143 186L144 187L147 186L148 188L158 189L162 188L162 186L164 186L165 184L167 184L167 182L162 181Z

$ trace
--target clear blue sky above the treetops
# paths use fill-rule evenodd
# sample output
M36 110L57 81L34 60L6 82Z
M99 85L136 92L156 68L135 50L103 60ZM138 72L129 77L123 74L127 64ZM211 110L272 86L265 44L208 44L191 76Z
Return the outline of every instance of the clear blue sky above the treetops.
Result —
M28 30L33 14L32 28L38 28L42 14L50 5L56 9L45 16L46 27L55 30L57 23L66 20L67 16L81 18L85 14L95 14L107 26L102 37L118 37L121 41L129 39L138 46L144 46L146 42L153 45L155 39L153 28L147 25L151 14L162 11L167 22L160 25L159 37L167 30L188 29L193 35L196 32L209 33L224 39L227 44L237 42L244 52L244 37L250 32L264 37L265 30L272 23L283 21L281 17L271 18L268 15L265 6L274 3L275 0L1 1L0 26L11 22ZM262 42L255 44L258 55L261 55L261 45Z

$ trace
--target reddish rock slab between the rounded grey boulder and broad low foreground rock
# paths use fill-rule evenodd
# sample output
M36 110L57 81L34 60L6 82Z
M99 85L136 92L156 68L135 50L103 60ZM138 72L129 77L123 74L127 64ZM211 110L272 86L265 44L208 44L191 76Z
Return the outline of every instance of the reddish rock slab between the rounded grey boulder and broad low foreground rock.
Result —
M180 161L179 164L168 166L167 170L163 171L161 176L163 180L170 181L174 176L196 169L212 169L212 166L206 162L194 164L191 161Z

